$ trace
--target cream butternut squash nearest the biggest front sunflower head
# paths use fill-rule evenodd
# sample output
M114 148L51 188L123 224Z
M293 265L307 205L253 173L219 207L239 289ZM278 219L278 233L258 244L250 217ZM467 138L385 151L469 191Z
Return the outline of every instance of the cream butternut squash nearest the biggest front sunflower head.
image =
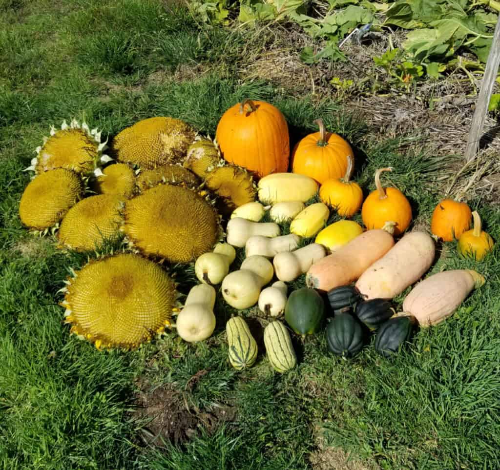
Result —
M175 321L178 335L187 342L203 341L215 329L215 289L208 284L191 288Z

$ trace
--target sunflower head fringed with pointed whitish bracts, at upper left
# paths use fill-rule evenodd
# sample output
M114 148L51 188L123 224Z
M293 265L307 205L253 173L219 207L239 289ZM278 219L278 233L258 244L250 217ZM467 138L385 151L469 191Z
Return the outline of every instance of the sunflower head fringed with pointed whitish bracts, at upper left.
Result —
M90 129L85 122L71 120L68 125L62 122L60 129L50 128L50 135L43 138L43 145L36 148L36 156L31 160L35 174L65 168L75 173L88 175L103 162L110 161L102 151L106 142L100 141L101 133L97 128Z

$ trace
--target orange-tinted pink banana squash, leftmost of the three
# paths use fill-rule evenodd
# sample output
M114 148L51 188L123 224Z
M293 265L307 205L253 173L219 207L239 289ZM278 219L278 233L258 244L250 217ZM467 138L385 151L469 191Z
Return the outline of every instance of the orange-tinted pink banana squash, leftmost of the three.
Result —
M353 238L334 253L312 264L305 276L307 287L329 290L348 285L381 258L394 239L385 230L368 230Z

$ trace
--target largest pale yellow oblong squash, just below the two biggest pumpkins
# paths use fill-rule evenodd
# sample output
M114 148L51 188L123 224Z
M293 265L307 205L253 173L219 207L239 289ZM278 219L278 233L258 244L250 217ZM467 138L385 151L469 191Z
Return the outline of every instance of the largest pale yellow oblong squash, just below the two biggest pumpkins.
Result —
M272 173L260 178L258 200L264 203L306 202L317 192L317 183L309 176L297 173Z

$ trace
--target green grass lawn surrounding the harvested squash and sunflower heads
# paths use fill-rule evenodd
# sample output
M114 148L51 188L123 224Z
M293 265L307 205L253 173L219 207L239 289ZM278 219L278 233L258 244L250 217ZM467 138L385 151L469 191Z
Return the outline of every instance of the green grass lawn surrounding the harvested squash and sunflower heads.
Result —
M231 310L220 299L214 336L200 344L168 333L137 351L99 352L69 336L57 291L68 268L95 254L61 252L51 237L30 235L17 214L29 181L22 169L50 125L64 119L84 119L111 138L139 119L167 115L213 136L230 105L264 99L285 115L293 143L321 116L354 146L363 189L373 189L377 167L392 166L386 181L407 194L415 223L428 228L442 196L438 177L457 158L402 154L398 139L368 137L341 102L245 79L241 64L264 50L261 36L250 27L202 26L167 1L0 0L5 470L500 468L498 248L476 263L460 258L455 243L438 246L432 272L476 269L486 283L389 359L369 344L342 360L328 353L321 332L294 339L299 363L286 374L271 370L263 348L254 367L236 372L224 333ZM473 194L468 202L500 241L498 205ZM186 293L192 266L171 269ZM242 314L258 330L256 311ZM135 411L144 403L174 422L162 443L151 443L147 416Z

